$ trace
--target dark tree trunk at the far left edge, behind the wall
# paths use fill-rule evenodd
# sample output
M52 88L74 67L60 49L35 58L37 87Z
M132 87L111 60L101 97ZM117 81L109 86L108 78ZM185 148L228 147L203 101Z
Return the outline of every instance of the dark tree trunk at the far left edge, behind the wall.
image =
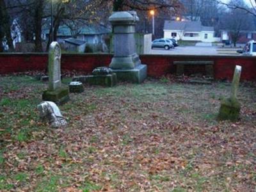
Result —
M3 37L6 36L6 40L9 46L9 51L12 52L13 49L13 40L11 35L11 24L10 24L10 16L6 10L6 4L4 0L0 0L0 40L2 44ZM3 48L2 48L3 49Z

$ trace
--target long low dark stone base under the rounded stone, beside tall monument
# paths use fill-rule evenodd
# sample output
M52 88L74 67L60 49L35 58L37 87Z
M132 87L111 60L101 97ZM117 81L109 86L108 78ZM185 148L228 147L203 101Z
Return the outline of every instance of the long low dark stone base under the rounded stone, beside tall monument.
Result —
M100 86L115 86L117 83L116 74L108 75L92 75L92 76L79 76L74 77L72 81L80 81L82 83L88 83L90 85Z

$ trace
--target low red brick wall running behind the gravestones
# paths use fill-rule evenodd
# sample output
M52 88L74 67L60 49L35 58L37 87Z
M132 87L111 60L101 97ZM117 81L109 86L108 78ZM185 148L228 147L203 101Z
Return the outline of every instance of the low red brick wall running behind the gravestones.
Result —
M95 67L108 66L111 58L111 54L63 54L61 68L90 74ZM141 63L148 65L148 76L152 77L175 73L173 61L212 60L216 79L232 79L235 65L241 65L241 79L256 81L256 57L141 55L140 58ZM0 54L0 74L45 70L46 66L47 54ZM189 73L193 70L202 72L202 67L189 67Z

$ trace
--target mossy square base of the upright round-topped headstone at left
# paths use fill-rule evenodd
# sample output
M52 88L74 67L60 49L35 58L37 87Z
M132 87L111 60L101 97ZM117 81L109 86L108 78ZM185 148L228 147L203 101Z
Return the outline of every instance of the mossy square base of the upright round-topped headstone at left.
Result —
M68 88L66 87L61 87L54 91L46 90L42 95L42 99L55 102L56 104L65 104L70 100L68 93Z

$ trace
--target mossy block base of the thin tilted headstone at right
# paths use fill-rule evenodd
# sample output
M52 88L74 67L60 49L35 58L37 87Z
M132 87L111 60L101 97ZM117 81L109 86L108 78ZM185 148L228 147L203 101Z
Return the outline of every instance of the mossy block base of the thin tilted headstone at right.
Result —
M218 119L236 121L239 118L240 109L241 104L238 102L237 99L223 99L221 101Z

